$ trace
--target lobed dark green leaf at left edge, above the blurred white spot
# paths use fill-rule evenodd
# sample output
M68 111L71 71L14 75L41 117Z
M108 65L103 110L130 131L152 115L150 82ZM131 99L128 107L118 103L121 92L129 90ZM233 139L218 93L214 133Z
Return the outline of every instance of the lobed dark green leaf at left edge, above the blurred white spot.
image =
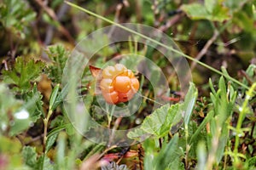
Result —
M28 90L31 88L30 82L35 81L43 71L44 62L30 59L26 61L23 57L15 59L14 67L9 70L3 70L3 82L15 85L17 90Z

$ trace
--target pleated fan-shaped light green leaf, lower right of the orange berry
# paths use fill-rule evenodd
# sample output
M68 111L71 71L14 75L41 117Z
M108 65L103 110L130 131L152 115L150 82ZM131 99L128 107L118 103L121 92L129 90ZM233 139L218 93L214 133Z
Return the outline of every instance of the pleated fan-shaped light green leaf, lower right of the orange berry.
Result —
M163 105L147 116L142 124L142 129L158 138L165 136L172 127L172 120L176 116L179 105Z

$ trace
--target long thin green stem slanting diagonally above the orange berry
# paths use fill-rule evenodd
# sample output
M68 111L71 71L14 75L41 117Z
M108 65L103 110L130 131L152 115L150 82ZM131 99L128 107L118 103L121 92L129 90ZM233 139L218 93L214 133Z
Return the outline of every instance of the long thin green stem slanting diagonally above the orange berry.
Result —
M190 59L190 60L194 61L195 63L206 67L206 68L209 69L210 71L213 71L213 72L217 73L218 75L221 75L221 76L223 76L223 77L226 77L226 78L227 78L228 80L230 80L230 81L236 82L236 83L237 83L238 85L240 85L241 87L246 88L246 89L249 89L249 88L247 87L247 85L245 85L245 84L239 82L239 81L236 80L235 78L223 74L221 71L218 71L217 69L213 68L213 67L210 66L210 65L207 65L207 64L201 62L200 60L194 59L193 57L191 57L191 56L189 56L189 55L187 55L187 54L183 54L181 51L178 51L178 50L175 49L175 48L169 47L169 46L167 46L167 45L164 44L164 43L158 42L157 40L154 40L154 39L151 38L151 37L147 37L147 36L145 36L145 35L143 35L143 34L137 32L137 31L133 31L133 30L131 30L130 28L127 28L127 27L125 27L125 26L122 26L122 25L120 25L120 24L118 24L118 23L116 23L116 22L114 22L114 21L112 21L112 20L108 20L107 18L105 18L105 17L103 17L103 16L101 16L101 15L99 15L99 14L93 13L93 12L91 12L90 10L87 10L87 9L85 9L85 8L82 8L82 7L79 7L78 5L76 5L76 4L74 4L74 3L70 3L70 2L67 2L67 1L65 1L65 3L67 3L67 4L70 5L70 6L72 6L73 8L78 8L79 10L84 11L84 12L87 13L87 14L90 14L90 15L92 15L92 16L95 16L95 17L98 18L98 19L104 20L104 21L106 21L106 22L108 22L108 23L110 23L110 24L112 24L112 25L114 25L114 26L118 26L119 28L122 28L122 29L125 30L125 31L129 31L129 32L131 32L131 33L133 33L133 34L135 34L135 35L137 35L137 36L139 36L139 37L143 37L143 38L145 38L145 39L147 39L147 40L149 40L149 41L151 41L151 42L154 42L154 43L160 45L161 47L164 47L164 48L166 48L166 49L168 49L168 50L170 50L170 51L172 51L172 52L174 52L174 53L176 53L176 54L180 54L180 55L182 55L183 57L185 57L185 58L187 58L187 59ZM255 93L255 92L253 92L253 93Z

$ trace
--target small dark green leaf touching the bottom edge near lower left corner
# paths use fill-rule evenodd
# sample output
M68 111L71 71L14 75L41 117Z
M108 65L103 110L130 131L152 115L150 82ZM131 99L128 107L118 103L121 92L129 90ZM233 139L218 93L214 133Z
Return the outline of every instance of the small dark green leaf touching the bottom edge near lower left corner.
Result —
M26 165L32 168L37 166L37 152L36 148L32 148L31 146L25 146L22 150L23 160Z

